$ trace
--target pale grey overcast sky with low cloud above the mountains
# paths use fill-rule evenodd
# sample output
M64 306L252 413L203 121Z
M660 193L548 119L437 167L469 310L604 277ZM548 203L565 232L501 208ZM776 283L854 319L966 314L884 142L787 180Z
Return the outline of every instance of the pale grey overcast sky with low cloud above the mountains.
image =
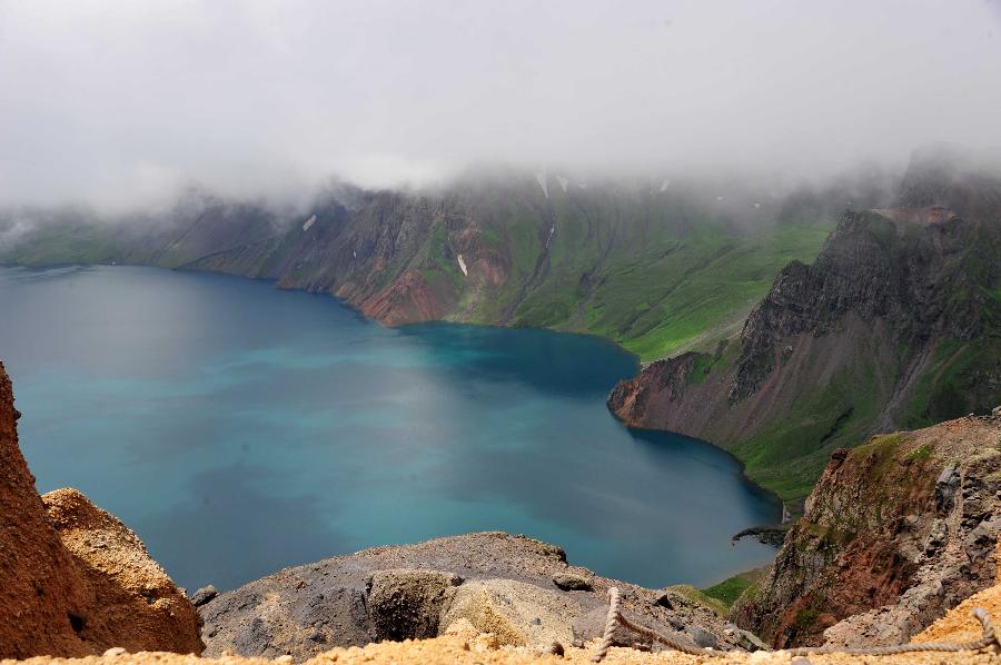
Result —
M0 204L1001 146L998 0L0 0Z

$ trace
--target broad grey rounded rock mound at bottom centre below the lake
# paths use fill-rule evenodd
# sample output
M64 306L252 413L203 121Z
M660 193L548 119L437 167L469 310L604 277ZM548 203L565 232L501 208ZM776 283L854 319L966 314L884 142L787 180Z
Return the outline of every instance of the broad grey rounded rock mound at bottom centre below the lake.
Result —
M692 643L687 631L721 648L753 647L711 609L678 596L568 566L563 550L524 536L470 534L379 547L288 568L225 593L199 608L206 654L291 655L334 646L442 635L456 625L498 644L546 648L601 636L612 585L635 621ZM623 632L622 644L640 637Z

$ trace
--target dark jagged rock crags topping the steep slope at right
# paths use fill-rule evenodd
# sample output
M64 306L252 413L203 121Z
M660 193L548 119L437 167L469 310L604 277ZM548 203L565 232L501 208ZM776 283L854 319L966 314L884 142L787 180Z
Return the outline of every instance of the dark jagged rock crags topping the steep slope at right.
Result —
M984 257L971 249L980 231L944 208L845 212L816 261L786 266L747 317L731 401L759 389L782 340L836 331L848 314L885 320L910 346L980 335L989 320L983 310L998 309L979 296L997 280L995 270L979 269Z

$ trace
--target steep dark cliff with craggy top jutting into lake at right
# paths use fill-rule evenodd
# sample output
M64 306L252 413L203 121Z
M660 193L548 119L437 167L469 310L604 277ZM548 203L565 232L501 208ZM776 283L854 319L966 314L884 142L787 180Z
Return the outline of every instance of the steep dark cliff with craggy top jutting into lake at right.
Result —
M786 266L737 339L651 364L609 408L725 446L796 498L838 447L1001 403L1001 180L928 168Z

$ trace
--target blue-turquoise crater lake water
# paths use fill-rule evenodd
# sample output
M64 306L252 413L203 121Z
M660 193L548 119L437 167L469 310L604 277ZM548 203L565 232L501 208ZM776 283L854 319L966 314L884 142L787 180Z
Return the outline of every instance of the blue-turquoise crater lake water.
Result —
M772 550L779 506L706 444L605 409L635 358L593 337L387 329L328 296L155 268L0 269L0 358L38 487L120 517L189 588L503 529L647 586Z

